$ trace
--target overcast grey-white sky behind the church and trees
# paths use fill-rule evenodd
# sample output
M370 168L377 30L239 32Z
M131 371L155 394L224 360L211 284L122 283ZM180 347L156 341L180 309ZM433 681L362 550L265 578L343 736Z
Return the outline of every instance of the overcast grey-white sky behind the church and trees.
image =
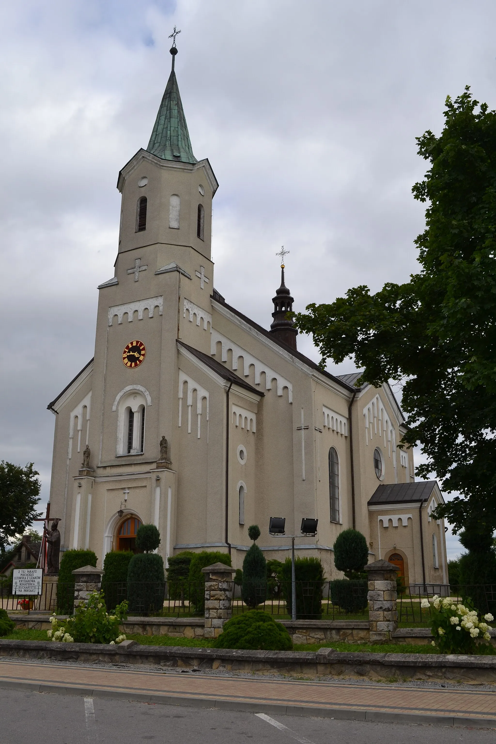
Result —
M281 244L297 310L407 280L423 225L415 137L439 132L466 84L496 107L486 0L16 0L0 19L0 459L34 461L44 504L46 406L93 356L117 173L148 143L173 25L193 152L220 184L216 288L265 327Z

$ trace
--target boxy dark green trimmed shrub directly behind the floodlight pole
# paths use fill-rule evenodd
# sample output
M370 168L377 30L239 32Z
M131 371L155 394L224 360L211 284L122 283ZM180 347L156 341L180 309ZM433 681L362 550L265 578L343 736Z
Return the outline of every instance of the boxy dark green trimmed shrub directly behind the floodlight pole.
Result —
M291 558L286 558L280 571L286 612L292 614ZM322 616L323 565L319 558L295 558L296 617L320 620Z

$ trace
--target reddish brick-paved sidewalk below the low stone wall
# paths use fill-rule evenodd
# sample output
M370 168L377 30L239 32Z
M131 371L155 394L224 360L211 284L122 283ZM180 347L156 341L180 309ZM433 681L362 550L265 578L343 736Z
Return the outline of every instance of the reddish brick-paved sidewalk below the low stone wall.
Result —
M247 679L1 661L0 687L279 715L496 728L496 690Z

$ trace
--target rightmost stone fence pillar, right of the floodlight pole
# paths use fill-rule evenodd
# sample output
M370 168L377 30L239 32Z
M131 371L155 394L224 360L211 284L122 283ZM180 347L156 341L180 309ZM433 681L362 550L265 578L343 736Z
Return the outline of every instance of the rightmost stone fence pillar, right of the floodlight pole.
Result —
M396 565L376 560L364 567L369 577L370 642L387 641L398 627Z

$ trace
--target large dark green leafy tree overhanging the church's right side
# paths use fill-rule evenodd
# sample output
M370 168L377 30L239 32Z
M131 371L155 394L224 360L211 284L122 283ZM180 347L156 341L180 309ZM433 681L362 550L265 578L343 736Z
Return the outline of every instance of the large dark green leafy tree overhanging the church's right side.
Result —
M496 527L496 112L468 87L446 99L445 125L417 138L429 162L413 196L428 202L416 238L420 270L375 295L350 289L311 304L295 325L326 359L352 356L361 382L404 381L405 446L420 443L442 488L457 491L436 516L462 529Z

